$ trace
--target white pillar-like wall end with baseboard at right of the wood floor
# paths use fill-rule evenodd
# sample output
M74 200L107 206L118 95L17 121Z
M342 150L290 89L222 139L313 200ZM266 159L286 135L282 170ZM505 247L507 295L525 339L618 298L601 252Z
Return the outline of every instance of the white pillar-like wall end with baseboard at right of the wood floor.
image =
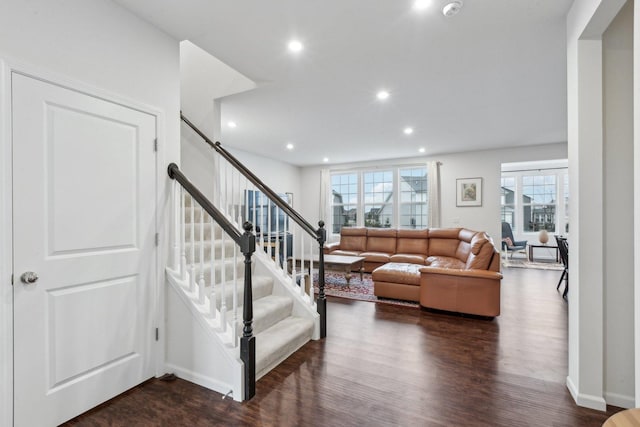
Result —
M602 34L624 0L574 2L567 17L571 224L569 373L578 405L604 410L604 217ZM631 325L629 325L630 327ZM624 328L624 326L623 326ZM612 353L609 353L611 357ZM632 376L631 372L626 375Z

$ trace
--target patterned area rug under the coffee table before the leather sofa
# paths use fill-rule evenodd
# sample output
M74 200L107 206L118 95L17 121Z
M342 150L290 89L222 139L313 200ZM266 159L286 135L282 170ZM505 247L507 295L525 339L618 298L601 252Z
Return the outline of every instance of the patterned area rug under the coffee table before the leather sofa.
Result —
M360 280L360 275L353 273L348 285L347 280L344 277L344 273L325 272L324 277L324 293L327 296L420 308L420 305L417 302L378 298L375 296L373 294L373 280L371 279L371 274L364 273L362 280ZM313 287L317 294L317 271L313 273Z

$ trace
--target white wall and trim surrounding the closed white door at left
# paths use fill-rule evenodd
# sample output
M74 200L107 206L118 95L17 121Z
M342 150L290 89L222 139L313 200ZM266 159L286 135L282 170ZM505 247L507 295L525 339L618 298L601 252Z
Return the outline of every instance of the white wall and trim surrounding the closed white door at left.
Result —
M95 89L123 102L148 106L160 115L159 224L166 211L166 164L179 161L178 43L109 0L3 0L0 6L0 58L7 67L57 82ZM7 71L5 68L4 71ZM0 135L0 425L12 425L10 138L8 84L2 86ZM160 230L158 274L167 259L166 232ZM163 277L163 276L159 276Z

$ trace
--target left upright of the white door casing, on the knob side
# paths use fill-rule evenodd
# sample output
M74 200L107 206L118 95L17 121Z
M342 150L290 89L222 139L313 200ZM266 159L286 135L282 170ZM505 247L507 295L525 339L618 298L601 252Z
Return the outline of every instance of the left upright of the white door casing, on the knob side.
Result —
M0 425L13 425L11 79L0 59Z

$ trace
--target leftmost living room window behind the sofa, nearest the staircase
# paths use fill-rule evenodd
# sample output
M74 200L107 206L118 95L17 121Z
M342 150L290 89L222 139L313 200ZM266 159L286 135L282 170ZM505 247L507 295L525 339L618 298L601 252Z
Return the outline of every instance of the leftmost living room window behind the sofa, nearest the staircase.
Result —
M357 224L358 175L355 173L332 175L331 192L333 232L340 233L343 226L353 227Z

